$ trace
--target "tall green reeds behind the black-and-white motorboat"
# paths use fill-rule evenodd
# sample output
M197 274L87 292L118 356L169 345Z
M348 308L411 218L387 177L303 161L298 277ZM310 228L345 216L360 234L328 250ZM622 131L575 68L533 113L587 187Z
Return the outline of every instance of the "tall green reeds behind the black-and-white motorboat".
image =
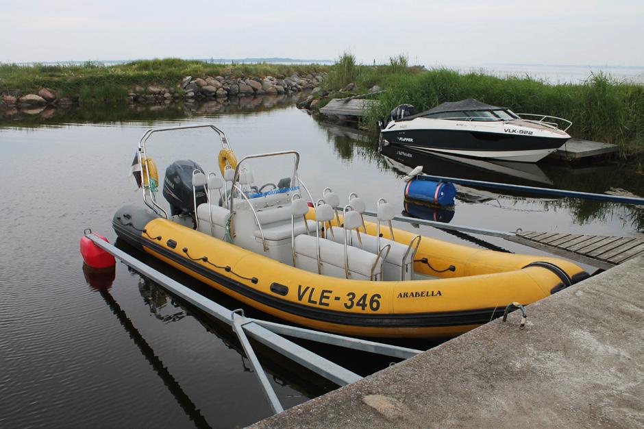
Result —
M644 86L596 73L581 84L551 85L532 77L500 78L450 69L384 77L385 93L364 121L375 127L395 106L419 112L444 101L474 98L518 113L549 114L573 122L571 136L615 143L623 154L644 149Z

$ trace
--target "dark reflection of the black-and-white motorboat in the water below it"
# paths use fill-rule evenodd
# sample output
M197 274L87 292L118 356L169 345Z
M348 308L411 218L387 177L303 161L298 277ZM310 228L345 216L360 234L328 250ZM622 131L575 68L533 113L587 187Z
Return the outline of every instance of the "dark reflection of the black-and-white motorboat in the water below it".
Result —
M428 154L393 145L382 147L382 154L391 167L405 174L417 165L422 165L423 171L432 175L512 184L553 184L541 167L526 162L481 160L446 154Z

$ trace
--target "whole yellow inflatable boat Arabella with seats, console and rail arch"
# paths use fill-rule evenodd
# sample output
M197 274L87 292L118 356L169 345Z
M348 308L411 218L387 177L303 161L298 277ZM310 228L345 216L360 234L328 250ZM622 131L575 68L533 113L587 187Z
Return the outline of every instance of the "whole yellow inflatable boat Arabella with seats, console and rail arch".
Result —
M225 134L208 126L230 151ZM150 162L147 140L166 130L174 129L150 130L142 138L140 165ZM259 186L250 164L260 159L290 160L293 169ZM393 228L395 214L384 199L373 222L363 219L366 204L355 194L342 206L327 188L315 201L299 180L294 151L234 164L206 173L193 161L173 163L163 184L169 210L156 199L158 179L147 177L156 169L142 169L149 208L119 209L116 234L270 315L356 336L456 336L501 315L510 302L530 304L588 275L558 258L494 252Z

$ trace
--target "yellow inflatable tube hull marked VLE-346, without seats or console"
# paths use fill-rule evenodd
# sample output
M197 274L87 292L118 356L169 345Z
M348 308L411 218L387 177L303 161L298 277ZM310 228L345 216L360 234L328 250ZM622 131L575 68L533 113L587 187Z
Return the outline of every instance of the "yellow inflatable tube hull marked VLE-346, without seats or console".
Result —
M382 338L444 338L467 332L502 314L510 302L530 304L587 274L565 260L504 254L424 237L417 258L456 271L419 273L440 280L369 282L332 278L285 265L197 232L149 210L126 206L114 215L119 238L253 308L308 328ZM367 224L375 233L375 226ZM412 234L395 230L397 241ZM384 233L388 236L388 232ZM205 259L204 259L205 258Z

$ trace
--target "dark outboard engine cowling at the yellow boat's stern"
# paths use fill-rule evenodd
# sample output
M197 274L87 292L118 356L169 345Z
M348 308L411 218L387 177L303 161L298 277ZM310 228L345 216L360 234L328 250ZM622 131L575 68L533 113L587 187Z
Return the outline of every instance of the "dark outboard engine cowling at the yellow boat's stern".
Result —
M193 215L195 201L193 201L193 171L203 169L193 160L179 160L170 164L166 169L163 180L163 196L170 203L170 214ZM197 206L206 202L206 186L197 186Z

